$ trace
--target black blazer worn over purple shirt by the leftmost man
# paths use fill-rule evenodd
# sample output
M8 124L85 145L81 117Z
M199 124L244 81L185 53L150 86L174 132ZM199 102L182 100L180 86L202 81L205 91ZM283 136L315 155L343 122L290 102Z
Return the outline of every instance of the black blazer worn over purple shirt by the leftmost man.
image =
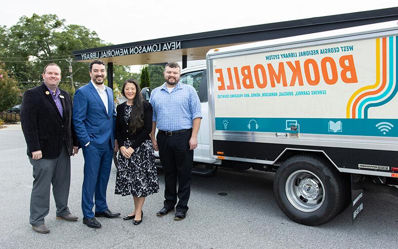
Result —
M61 90L63 117L44 83L27 90L22 99L21 124L27 145L27 155L41 150L43 158L53 159L60 156L64 143L72 155L72 146L78 146L78 140L72 124L72 99L68 92Z

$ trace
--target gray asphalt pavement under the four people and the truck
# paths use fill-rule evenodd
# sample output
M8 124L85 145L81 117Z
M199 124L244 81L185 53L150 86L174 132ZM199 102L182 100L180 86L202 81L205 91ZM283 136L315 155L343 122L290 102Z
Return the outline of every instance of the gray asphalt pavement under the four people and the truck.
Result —
M20 125L0 128L0 248L397 248L398 198L364 192L364 211L352 223L350 209L331 222L308 227L287 218L272 190L274 173L219 169L213 177L193 176L187 218L174 213L157 217L162 208L164 175L159 193L146 198L143 222L98 218L101 229L82 223L83 153L72 157L69 208L77 222L55 219L51 197L45 223L49 234L29 225L32 169ZM107 202L122 216L132 210L132 198L114 195L116 169L112 166ZM226 195L225 195L226 194Z

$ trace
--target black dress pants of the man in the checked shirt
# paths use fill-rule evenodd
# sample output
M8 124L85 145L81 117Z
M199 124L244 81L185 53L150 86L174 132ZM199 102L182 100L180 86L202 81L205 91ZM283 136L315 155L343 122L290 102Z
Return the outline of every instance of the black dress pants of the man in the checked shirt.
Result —
M156 136L160 162L165 173L164 207L167 209L175 207L176 211L188 211L188 200L191 194L191 172L194 160L194 150L190 150L189 145L191 135L192 129L188 129L171 136L158 132ZM178 203L177 197L179 199Z

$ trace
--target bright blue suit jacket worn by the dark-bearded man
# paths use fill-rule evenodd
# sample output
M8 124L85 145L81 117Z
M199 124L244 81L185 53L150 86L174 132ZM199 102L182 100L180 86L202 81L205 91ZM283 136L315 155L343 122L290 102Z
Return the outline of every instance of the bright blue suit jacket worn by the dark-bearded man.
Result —
M107 86L108 112L91 81L76 90L73 97L73 125L81 146L89 141L91 145L104 148L109 139L114 148L114 127L116 112L113 105L113 92Z

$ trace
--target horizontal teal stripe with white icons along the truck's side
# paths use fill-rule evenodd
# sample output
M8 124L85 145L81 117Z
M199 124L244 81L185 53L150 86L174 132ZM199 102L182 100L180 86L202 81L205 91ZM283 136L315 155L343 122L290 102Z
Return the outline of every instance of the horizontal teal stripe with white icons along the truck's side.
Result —
M252 120L252 121L251 121ZM215 118L216 130L228 131L259 131L259 132L290 132L286 130L286 121L299 124L300 133L332 134L332 135L356 135L356 136L392 136L398 137L398 119L308 119L308 118ZM337 123L341 121L342 130L337 131L332 125L329 130L329 121ZM248 126L250 122L250 128ZM376 124L388 122L394 127L383 134ZM224 126L226 124L226 126ZM256 124L258 127L256 128ZM290 127L290 126L289 126ZM335 130L336 132L334 132Z

